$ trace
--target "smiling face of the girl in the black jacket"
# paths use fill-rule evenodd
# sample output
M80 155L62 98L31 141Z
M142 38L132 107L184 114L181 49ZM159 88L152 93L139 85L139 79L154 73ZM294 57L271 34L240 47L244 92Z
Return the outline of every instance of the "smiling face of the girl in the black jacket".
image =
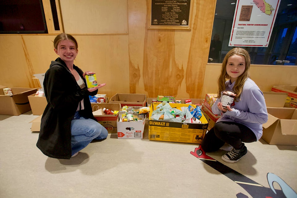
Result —
M57 48L54 50L65 63L73 63L78 53L78 49L76 49L74 42L69 40L60 41Z

